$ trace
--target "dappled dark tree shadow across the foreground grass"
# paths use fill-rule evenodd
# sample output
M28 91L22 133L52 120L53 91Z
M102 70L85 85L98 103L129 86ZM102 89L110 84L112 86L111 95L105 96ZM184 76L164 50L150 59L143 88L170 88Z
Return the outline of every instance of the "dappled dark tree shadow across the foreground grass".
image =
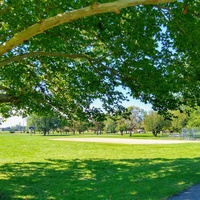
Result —
M200 158L87 159L9 163L0 199L164 199L200 183Z

